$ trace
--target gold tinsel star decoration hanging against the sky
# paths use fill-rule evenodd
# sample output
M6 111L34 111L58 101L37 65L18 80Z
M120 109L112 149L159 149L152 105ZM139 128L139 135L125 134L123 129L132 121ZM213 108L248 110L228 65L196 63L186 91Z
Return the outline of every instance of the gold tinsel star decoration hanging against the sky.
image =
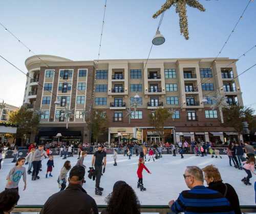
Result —
M161 9L153 15L153 18L157 18L172 6L176 7L176 13L179 13L180 17L180 33L183 34L185 39L189 39L186 5L197 8L200 11L205 11L203 5L201 5L197 0L166 0Z

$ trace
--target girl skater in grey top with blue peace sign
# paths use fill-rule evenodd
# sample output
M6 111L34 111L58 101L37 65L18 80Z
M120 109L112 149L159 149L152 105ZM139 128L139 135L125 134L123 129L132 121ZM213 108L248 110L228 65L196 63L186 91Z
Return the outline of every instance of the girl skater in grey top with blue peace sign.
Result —
M18 183L20 178L22 178L23 176L23 181L24 181L24 188L23 191L25 191L26 186L27 186L27 180L26 180L26 168L23 167L23 165L25 164L25 158L24 157L20 157L18 158L15 167L13 167L6 180L8 180L5 189L16 189L18 191Z

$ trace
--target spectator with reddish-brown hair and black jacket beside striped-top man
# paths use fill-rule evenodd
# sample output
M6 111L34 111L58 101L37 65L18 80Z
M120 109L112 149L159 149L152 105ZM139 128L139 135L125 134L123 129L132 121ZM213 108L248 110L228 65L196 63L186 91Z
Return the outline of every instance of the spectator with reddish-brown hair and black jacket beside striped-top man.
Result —
M208 188L220 192L229 201L234 213L241 214L238 195L230 184L222 182L218 168L214 165L207 165L202 171Z

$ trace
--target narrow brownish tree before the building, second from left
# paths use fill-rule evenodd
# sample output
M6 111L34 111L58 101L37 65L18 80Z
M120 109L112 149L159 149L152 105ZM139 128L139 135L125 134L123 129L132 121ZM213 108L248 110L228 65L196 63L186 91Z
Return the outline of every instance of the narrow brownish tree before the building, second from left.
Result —
M101 110L93 110L87 123L91 127L93 139L98 143L98 138L108 129L108 117Z

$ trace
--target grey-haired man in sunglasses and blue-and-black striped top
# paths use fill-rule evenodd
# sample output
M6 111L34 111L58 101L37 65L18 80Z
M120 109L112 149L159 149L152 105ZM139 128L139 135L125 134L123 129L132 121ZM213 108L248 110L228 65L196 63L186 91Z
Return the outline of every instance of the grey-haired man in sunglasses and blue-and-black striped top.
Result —
M177 201L170 201L169 207L175 212L186 213L234 213L226 198L221 193L206 188L203 172L198 167L187 167L183 175L190 190L183 191ZM196 201L196 203L195 203Z

